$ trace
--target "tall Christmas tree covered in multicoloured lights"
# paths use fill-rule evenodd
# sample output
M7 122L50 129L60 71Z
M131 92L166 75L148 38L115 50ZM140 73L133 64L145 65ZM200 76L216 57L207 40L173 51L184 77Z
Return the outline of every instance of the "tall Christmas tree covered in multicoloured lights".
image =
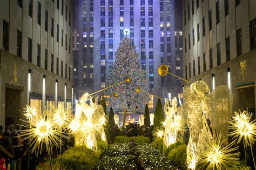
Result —
M147 79L145 71L140 66L139 54L136 52L133 40L124 38L115 56L113 68L109 71L108 85L119 83L127 78L130 78L130 83L121 83L109 90L110 95L113 92L118 94L118 98L110 98L110 105L115 112L135 111L136 107L144 110L149 100ZM137 87L141 92L136 93Z

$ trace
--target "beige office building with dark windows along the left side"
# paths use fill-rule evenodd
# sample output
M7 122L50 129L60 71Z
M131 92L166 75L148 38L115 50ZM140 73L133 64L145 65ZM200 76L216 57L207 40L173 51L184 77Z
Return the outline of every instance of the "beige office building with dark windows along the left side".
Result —
M26 104L72 107L72 1L1 1L0 124L17 124Z

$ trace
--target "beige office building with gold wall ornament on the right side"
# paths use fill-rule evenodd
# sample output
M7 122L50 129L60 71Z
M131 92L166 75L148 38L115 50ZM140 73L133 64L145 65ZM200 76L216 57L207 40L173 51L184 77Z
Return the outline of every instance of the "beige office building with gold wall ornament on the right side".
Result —
M233 111L255 112L256 2L183 0L184 77L228 86Z

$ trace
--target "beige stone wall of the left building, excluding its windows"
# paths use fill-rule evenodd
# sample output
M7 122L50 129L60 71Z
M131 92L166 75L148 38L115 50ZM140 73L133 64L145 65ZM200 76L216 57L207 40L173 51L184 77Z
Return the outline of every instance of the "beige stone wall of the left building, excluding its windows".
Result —
M29 16L29 3L32 2L32 17ZM58 3L58 8L57 8ZM41 12L38 10L41 4ZM46 15L48 12L48 16ZM41 14L41 15L38 15ZM72 88L72 1L70 0L23 0L2 1L0 5L0 125L5 124L6 86L15 86L21 90L18 112L26 104L28 87L28 70L33 71L31 92L42 93L43 75L46 75L46 94L55 96L55 82L58 80L58 97L64 98L64 86L67 84L67 98L71 98ZM38 24L38 17L41 24ZM52 25L53 19L53 25ZM9 49L3 49L3 21L9 23ZM47 22L46 22L47 21ZM48 24L45 26L45 24ZM57 24L59 40L57 42ZM46 30L45 30L46 27ZM53 36L51 28L53 27ZM17 57L17 30L22 32L22 55ZM62 35L63 30L63 35ZM63 45L62 45L63 37ZM32 62L28 62L28 38L32 39ZM40 65L37 60L37 44L41 46ZM47 50L47 53L45 52ZM51 60L53 56L53 60ZM57 58L58 74L57 74ZM46 61L46 62L45 62ZM63 66L62 66L63 62ZM46 64L47 63L47 67ZM51 63L52 68L51 68ZM14 65L17 66L17 83L14 82ZM51 72L52 71L52 72ZM8 84L8 85L6 85ZM11 115L13 116L13 115ZM17 117L19 117L17 115ZM2 119L3 118L3 119ZM15 123L18 120L15 118Z

